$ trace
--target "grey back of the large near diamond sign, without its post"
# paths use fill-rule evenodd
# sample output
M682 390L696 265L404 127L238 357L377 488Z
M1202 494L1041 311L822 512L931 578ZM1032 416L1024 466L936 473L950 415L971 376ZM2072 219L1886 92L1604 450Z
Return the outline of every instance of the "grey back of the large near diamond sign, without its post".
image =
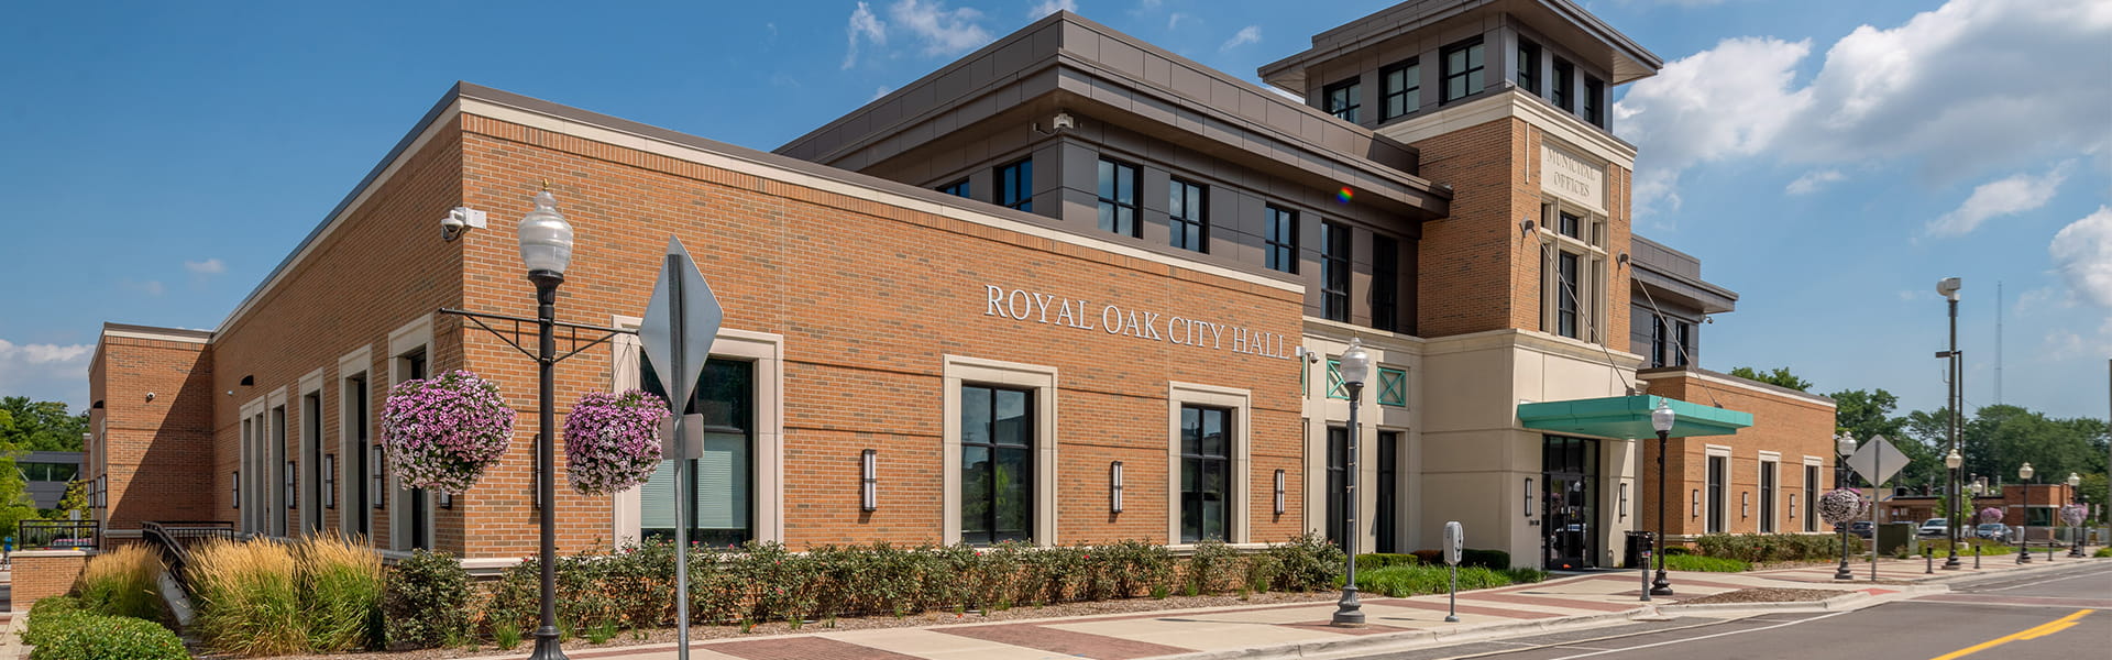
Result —
M682 415L682 404L697 387L697 374L712 355L720 322L724 311L712 286L703 283L689 250L682 250L682 239L667 237L667 256L661 260L659 281L653 283L646 317L638 324L638 343L667 387L667 404L676 415ZM667 459L695 459L695 448L686 442L670 442L670 448L674 451Z

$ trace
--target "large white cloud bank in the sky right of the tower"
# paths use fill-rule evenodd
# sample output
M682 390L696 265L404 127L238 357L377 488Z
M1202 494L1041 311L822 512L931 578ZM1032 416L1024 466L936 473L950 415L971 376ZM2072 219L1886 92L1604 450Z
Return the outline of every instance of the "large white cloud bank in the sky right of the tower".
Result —
M2025 161L2112 161L2112 2L1951 0L1897 28L1861 25L1825 51L1732 38L1666 63L1616 104L1639 150L1635 207L1677 207L1679 173L1719 159L1903 159L1932 182ZM2049 66L2057 63L2057 66Z

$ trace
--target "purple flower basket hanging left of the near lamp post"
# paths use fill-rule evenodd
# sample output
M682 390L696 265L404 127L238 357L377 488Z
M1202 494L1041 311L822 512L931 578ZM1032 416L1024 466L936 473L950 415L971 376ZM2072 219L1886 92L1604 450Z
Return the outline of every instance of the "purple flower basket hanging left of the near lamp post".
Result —
M513 440L513 408L498 385L467 370L403 381L382 406L389 470L408 489L463 495Z

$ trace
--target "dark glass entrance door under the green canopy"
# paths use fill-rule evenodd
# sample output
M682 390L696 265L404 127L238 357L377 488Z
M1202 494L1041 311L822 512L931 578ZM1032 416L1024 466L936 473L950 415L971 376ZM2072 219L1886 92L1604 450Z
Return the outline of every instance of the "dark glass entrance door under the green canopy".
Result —
M1544 436L1542 531L1546 569L1588 569L1599 554L1599 442Z

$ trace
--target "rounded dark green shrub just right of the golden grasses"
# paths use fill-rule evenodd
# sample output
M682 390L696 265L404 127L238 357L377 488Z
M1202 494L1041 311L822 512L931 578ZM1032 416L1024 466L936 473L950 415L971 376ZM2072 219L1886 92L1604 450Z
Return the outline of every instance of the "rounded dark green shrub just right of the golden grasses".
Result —
M412 552L389 569L382 620L389 645L441 647L463 641L469 632L469 573L463 563L448 552Z

